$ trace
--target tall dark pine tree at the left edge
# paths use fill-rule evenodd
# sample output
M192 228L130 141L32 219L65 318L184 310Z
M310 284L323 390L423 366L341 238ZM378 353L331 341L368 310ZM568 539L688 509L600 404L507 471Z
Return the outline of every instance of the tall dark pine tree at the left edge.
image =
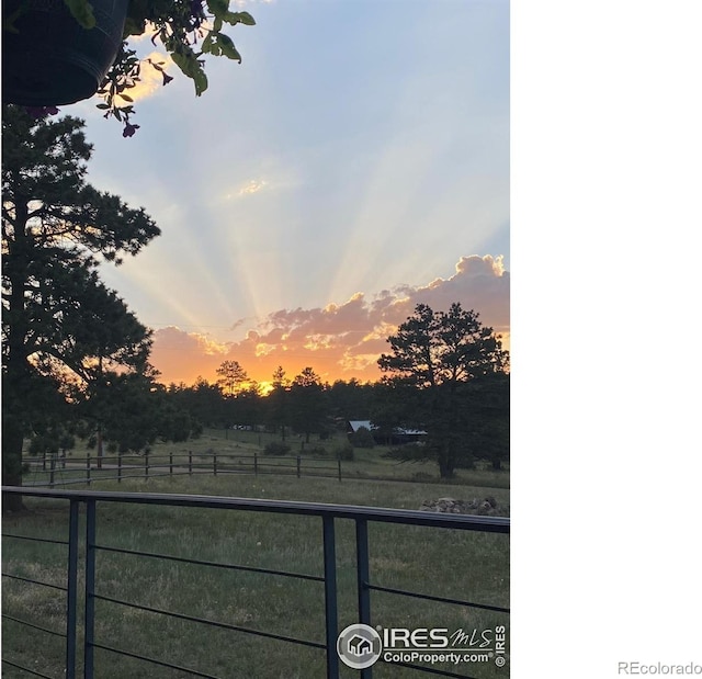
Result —
M100 371L102 350L103 361L122 369L146 367L148 332L100 283L95 269L136 254L159 229L143 208L87 183L92 146L82 128L75 117L35 120L3 106L5 485L21 484L23 438L46 416L43 404L86 391ZM8 498L9 508L20 507L18 500Z

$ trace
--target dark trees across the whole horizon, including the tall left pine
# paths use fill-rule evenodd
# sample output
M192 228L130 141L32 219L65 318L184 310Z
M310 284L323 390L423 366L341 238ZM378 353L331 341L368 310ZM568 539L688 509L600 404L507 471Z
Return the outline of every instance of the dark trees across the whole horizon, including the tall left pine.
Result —
M88 183L83 126L3 106L3 485L21 485L27 440L34 452L55 452L87 439L100 456L183 441L203 427L267 427L307 441L351 419L372 420L380 435L411 428L423 444L397 454L434 460L443 477L477 456L496 466L507 459L509 357L457 303L418 305L388 338L375 384L322 383L313 367L288 380L280 366L263 396L237 361L225 361L214 383L160 384L151 330L99 276L160 230L144 208Z

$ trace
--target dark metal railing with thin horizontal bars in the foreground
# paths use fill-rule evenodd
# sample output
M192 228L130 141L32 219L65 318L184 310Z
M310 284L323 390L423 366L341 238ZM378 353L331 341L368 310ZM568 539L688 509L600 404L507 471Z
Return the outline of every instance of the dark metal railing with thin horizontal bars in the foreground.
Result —
M403 597L412 597L418 600L430 600L442 603L450 603L460 607L468 607L474 609L483 609L497 613L509 614L509 609L500 606L491 606L479 602L472 602L446 597L435 597L426 592L416 592L399 588L382 587L371 582L371 555L369 550L369 523L394 523L404 525L420 525L434 529L454 529L461 531L478 531L484 533L501 533L508 534L510 530L509 518L503 517L478 517L467 514L445 514L414 510L382 509L343 505L325 505L316 502L283 501L283 500L254 500L242 498L210 497L210 496L192 496L192 495L166 495L166 494L148 494L148 493L112 493L112 491L91 491L91 490L55 490L46 488L22 488L22 487L2 487L3 497L8 495L21 495L33 498L54 498L67 500L69 502L69 525L68 540L48 540L33 537L29 535L20 535L13 533L3 533L3 537L11 540L25 540L36 542L47 542L67 547L66 562L66 586L57 586L45 581L38 581L33 578L18 576L11 573L3 573L3 577L12 578L20 581L31 582L38 586L53 587L66 593L66 626L65 631L58 632L42 625L36 625L20 618L11 616L3 613L3 618L9 619L18 624L29 625L47 634L59 636L65 640L65 672L67 679L76 679L80 663L77 661L79 650L82 652L82 677L84 679L94 679L95 663L94 650L109 650L114 654L135 658L137 660L158 665L160 667L170 668L186 672L193 677L203 677L206 679L223 679L211 674L201 671L193 667L183 667L171 664L163 658L155 658L134 653L126 648L118 648L110 645L105 640L97 637L97 601L109 601L132 609L157 613L177 618L180 620L199 623L203 625L216 626L222 630L231 632L257 635L260 637L279 640L290 644L303 645L310 648L324 650L326 654L326 676L328 679L338 679L339 677L339 656L337 654L337 637L339 633L339 611L338 611L338 588L337 588L337 531L336 522L342 519L349 519L355 524L355 590L358 602L358 622L371 624L371 593L373 591L398 595ZM105 503L131 503L145 506L166 506L181 508L201 508L201 509L218 509L228 511L244 512L273 512L279 514L291 514L296 517L313 517L320 521L321 539L322 539L322 576L306 575L292 573L280 569L258 568L244 566L238 564L223 564L210 562L205 559L193 559L179 557L154 552L145 552L139 550L127 550L115 547L106 544L100 544L97 541L97 525L99 520L99 507ZM84 539L79 539L79 516L84 512ZM79 552L83 552L84 556L79 564ZM98 552L112 552L129 554L148 559L163 559L196 566L207 566L214 568L226 568L231 570L244 570L256 574L276 575L286 578L304 579L317 581L324 586L324 614L325 614L325 643L315 642L314 640L296 638L287 635L274 634L271 632L254 630L242 625L227 624L201 616L178 613L173 611L162 610L156 607L141 606L129 602L116 597L107 597L97 591L97 582L99 581L99 573L95 568L95 556ZM84 591L81 593L84 610L82 615L82 626L79 623L79 570L84 580ZM80 643L79 643L80 640ZM82 648L79 646L82 644ZM41 671L22 666L19 663L2 658L2 663L23 670L32 676L53 679ZM456 677L463 679L471 678L467 675L457 675L451 671L444 671L427 666L412 665L410 663L394 663L394 665L411 668L415 670L443 676ZM362 679L372 678L372 668L359 670Z

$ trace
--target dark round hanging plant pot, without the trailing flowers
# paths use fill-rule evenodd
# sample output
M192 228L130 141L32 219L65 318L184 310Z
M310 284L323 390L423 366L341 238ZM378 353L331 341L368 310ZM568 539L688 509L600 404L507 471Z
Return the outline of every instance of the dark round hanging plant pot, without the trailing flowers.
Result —
M87 30L64 0L3 0L3 20L25 5L18 32L2 32L4 103L55 106L95 93L122 43L128 0L90 3L98 24Z

